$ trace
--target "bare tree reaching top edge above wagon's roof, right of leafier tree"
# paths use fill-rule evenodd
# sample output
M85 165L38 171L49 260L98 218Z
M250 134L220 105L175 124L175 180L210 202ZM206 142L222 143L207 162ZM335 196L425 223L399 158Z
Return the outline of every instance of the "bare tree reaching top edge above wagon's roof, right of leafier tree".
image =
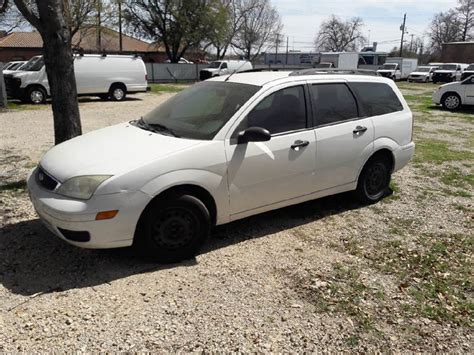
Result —
M241 23L232 47L252 61L274 45L283 25L280 14L269 0L242 0L239 6Z

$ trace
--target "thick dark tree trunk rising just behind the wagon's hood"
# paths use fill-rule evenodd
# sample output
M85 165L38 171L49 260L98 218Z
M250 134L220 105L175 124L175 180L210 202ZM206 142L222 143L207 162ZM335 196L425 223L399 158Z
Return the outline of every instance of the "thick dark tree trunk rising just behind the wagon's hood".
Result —
M54 138L55 144L59 144L82 134L71 33L63 1L37 3L43 25L40 33L52 97Z

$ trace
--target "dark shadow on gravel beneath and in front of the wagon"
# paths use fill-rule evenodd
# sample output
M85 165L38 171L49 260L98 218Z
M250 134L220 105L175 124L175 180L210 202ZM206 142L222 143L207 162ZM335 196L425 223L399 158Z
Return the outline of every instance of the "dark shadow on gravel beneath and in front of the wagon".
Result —
M341 194L249 217L215 228L200 254L361 207L352 196ZM131 275L196 264L194 258L160 265L140 258L132 248L76 248L52 235L38 219L0 229L0 284L24 296L93 287Z

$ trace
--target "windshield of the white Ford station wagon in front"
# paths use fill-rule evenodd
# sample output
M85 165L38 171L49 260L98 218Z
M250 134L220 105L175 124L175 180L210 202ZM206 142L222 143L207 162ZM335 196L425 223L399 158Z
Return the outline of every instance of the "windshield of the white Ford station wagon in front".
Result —
M189 139L212 140L260 86L202 82L173 96L143 117L151 129Z

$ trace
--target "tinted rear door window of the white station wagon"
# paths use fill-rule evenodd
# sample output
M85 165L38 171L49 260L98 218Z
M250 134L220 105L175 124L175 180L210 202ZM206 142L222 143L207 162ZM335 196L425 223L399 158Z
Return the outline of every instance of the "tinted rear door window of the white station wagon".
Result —
M311 86L311 98L316 126L357 118L357 103L345 84Z

